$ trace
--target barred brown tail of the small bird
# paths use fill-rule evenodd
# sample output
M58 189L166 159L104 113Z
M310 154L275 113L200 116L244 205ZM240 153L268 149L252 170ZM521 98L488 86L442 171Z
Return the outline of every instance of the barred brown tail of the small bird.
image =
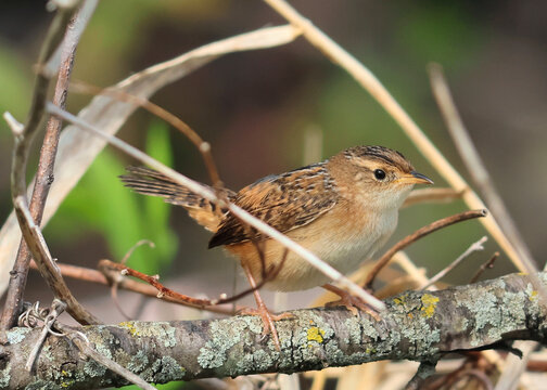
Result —
M143 195L160 196L173 205L187 209L199 224L211 232L216 232L228 210L191 192L163 173L144 167L127 167L128 174L120 176L124 185ZM209 187L213 191L213 187ZM234 197L228 192L228 199Z

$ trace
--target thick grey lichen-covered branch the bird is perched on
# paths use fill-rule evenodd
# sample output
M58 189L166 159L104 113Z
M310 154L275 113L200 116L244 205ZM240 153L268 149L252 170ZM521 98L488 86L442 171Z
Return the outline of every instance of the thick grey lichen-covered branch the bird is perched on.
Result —
M539 274L547 283L547 274ZM547 310L530 277L511 274L441 291L386 299L381 321L343 308L294 312L277 323L281 352L262 336L259 318L125 322L78 328L92 348L149 382L254 373L293 373L380 360L435 361L444 353L544 341ZM65 327L63 327L65 328ZM13 328L0 349L0 388L96 389L125 379L86 360L66 337L49 337L29 375L39 329Z

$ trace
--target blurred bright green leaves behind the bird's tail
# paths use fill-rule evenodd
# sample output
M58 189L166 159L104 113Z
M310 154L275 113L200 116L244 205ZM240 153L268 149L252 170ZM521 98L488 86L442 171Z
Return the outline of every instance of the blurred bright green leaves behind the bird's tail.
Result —
M166 165L173 164L165 125L154 121L150 126L147 153ZM149 239L155 248L135 250L128 264L156 274L165 270L177 251L177 238L169 227L170 208L160 198L140 196L124 187L117 178L124 170L119 158L104 151L63 203L47 233L52 239L67 240L87 234L86 229L99 232L115 261L120 261L137 242Z

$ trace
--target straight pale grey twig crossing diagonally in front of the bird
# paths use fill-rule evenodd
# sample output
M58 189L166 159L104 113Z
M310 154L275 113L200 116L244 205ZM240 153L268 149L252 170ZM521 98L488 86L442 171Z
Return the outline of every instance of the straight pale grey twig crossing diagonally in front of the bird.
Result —
M355 283L349 281L347 277L345 277L342 273L340 273L338 270L332 268L330 264L326 263L325 261L319 259L316 255L311 253L309 250L307 250L303 246L296 244L295 242L293 242L292 239L290 239L284 234L277 231L276 229L271 227L267 223L253 217L251 213L243 210L241 207L233 205L233 204L225 204L221 199L219 199L215 195L214 192L204 187L202 184L200 184L200 183L178 173L177 171L166 167L165 165L163 165L160 161L155 160L154 158L148 156L145 153L137 150L136 147L125 143L124 141L122 141L113 135L110 135L110 134L102 132L101 130L97 129L93 126L90 126L89 123L77 118L76 116L74 116L67 112L64 112L52 104L48 104L48 110L51 114L58 115L61 118L68 120L72 123L77 125L81 129L87 130L87 131L96 134L97 136L100 136L104 140L106 140L109 143L111 143L116 148L119 148L124 153L140 160L142 164L145 164L145 165L150 166L151 168L154 168L155 170L165 174L169 179L174 180L176 183L188 187L188 190L190 190L191 192L193 192L200 196L203 196L205 199L211 200L220 207L227 207L232 214L234 214L236 217L241 219L243 222L252 225L253 227L255 227L259 232L266 234L270 238L282 244L285 248L295 252L296 255L302 257L304 260L309 262L309 264L311 264L317 270L319 270L321 273L327 275L331 281L333 281L334 283L338 283L338 285L348 289L351 292L353 292L357 297L361 298L365 302L370 304L373 309L383 310L385 308L385 304L383 302L381 302L377 298L372 297L370 294L366 292L362 288L360 288L358 285L356 285Z

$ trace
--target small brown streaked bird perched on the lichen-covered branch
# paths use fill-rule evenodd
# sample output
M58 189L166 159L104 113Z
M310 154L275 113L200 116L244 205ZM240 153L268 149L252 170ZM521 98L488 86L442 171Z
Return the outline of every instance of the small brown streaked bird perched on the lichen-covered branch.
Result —
M265 285L268 289L294 291L323 285L341 296L341 303L354 303L343 291L327 285L328 277L308 262L293 252L285 255L283 246L244 225L228 210L152 169L127 170L130 174L120 177L126 186L185 207L190 217L212 231L208 247L224 246L237 256L252 286L263 278L266 268L276 270ZM356 146L322 162L265 177L238 193L227 191L226 196L340 272L348 273L385 244L414 184L432 183L396 151ZM262 259L254 244L257 242L263 248ZM255 298L266 328L271 328L279 344L271 322L275 316L257 294Z

